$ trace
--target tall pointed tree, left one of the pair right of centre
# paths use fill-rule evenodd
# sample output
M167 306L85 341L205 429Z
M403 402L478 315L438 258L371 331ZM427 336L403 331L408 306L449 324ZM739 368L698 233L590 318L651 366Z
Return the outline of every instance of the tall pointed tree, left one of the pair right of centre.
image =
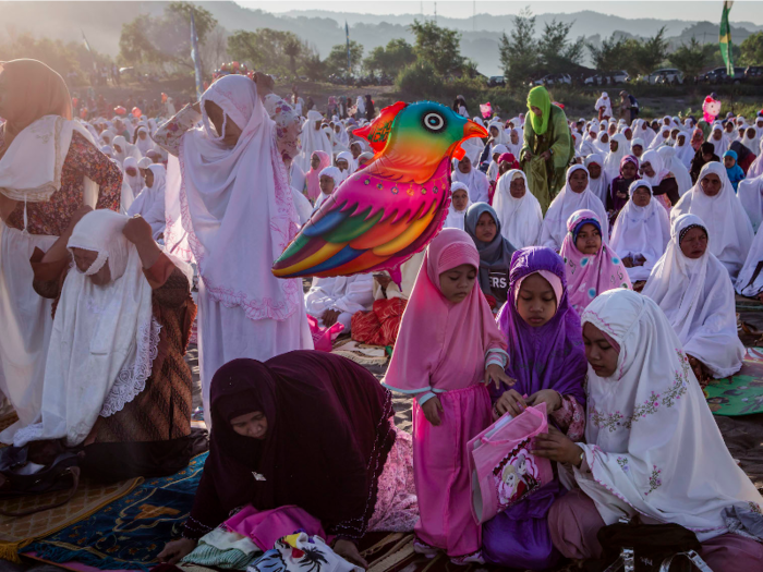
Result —
M511 35L500 37L500 63L504 76L512 88L525 85L540 63L535 40L535 16L524 8L513 17Z

